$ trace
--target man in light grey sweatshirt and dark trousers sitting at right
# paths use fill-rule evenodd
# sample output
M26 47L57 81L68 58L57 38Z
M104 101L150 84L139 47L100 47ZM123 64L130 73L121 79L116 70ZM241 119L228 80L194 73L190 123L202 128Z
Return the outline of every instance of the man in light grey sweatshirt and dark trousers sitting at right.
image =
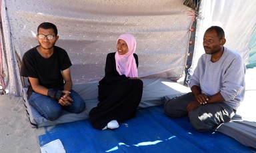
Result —
M200 132L229 122L245 95L245 65L241 55L227 49L221 27L209 27L203 37L203 54L189 81L192 92L165 102L165 114L189 116Z

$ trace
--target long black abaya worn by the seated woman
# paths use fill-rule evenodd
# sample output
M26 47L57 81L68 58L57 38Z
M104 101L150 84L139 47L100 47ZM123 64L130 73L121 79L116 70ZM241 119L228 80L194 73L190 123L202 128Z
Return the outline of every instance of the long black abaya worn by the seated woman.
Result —
M138 57L133 56L138 66ZM119 75L115 69L115 53L109 53L105 76L99 81L99 104L89 112L93 127L101 130L111 120L123 122L135 117L142 92L142 80Z

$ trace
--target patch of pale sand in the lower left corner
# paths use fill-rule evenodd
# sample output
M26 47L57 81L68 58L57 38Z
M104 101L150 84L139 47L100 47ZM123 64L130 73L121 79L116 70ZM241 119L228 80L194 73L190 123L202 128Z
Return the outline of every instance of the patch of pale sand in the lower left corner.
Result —
M0 152L41 152L38 136L44 128L31 128L23 98L0 96Z

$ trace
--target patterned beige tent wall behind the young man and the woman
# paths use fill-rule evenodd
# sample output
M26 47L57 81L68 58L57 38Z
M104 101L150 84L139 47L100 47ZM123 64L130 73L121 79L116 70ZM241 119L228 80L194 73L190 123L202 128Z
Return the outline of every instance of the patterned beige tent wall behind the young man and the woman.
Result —
M132 33L137 40L140 77L181 78L193 20L191 9L183 2L3 1L3 54L7 65L4 71L9 74L5 81L10 94L21 95L19 59L38 44L37 26L45 21L57 25L60 38L56 45L71 58L74 84L103 77L107 53L115 52L117 38L125 32Z

